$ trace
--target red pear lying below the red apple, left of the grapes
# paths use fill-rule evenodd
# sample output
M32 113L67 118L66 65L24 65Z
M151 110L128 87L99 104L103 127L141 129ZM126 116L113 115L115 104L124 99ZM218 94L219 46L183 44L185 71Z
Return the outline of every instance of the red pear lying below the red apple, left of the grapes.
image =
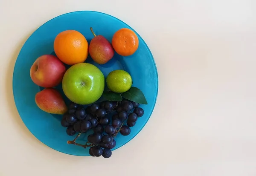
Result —
M67 106L61 94L53 88L45 88L35 95L35 103L38 107L51 114L64 114Z

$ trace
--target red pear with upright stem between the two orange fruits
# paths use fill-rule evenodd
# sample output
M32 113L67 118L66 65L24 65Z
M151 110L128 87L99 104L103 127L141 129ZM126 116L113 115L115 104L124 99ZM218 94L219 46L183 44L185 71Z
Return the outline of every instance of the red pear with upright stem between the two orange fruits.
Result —
M102 35L95 35L93 29L90 28L94 38L89 45L89 54L94 62L105 64L114 56L114 49L111 43Z

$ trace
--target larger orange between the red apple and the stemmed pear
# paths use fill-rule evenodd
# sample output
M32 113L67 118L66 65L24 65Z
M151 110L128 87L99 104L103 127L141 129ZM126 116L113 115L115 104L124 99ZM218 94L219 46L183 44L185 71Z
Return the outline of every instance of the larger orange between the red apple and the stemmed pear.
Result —
M75 30L59 33L53 48L57 57L68 65L84 62L88 56L88 42L84 35Z

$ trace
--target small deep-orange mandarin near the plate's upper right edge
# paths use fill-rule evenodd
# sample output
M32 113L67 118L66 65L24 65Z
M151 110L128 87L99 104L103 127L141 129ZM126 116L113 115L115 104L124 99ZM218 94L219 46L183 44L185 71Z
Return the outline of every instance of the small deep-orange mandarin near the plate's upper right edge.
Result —
M122 28L113 35L112 46L117 54L129 56L138 49L139 39L131 29Z

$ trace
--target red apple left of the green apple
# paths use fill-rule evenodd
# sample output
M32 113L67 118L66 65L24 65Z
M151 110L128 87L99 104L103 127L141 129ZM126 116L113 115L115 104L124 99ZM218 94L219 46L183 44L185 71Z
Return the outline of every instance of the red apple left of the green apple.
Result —
M55 87L61 83L66 68L54 55L42 55L30 68L32 81L41 87Z

